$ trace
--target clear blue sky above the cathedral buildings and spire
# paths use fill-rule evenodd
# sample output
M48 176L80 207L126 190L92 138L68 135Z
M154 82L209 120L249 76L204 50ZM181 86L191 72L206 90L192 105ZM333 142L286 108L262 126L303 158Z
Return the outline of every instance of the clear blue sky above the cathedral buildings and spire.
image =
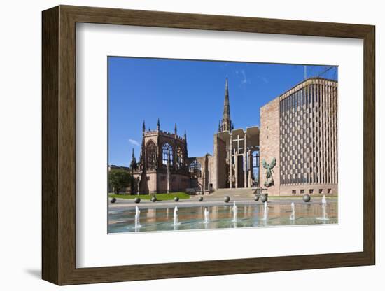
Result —
M137 159L142 122L178 134L187 132L188 155L213 153L222 118L225 78L235 128L260 125L260 106L304 80L304 66L246 62L109 57L109 164ZM307 77L337 79L337 67L307 66Z

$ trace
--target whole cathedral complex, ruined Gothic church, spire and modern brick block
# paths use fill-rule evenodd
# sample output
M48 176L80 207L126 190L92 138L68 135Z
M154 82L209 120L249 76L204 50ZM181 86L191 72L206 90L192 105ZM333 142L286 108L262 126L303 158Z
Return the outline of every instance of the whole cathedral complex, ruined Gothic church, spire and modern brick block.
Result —
M162 131L158 120L153 131L143 124L130 171L133 194L255 187L269 195L337 194L337 82L304 80L260 108L260 127L235 129L226 79L213 155L188 157L186 132Z

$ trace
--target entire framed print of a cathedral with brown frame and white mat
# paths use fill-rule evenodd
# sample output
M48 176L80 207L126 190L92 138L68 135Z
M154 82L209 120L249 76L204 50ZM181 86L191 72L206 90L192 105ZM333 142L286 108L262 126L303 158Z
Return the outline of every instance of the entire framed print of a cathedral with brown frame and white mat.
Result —
M374 73L370 25L43 11L43 279L374 264Z

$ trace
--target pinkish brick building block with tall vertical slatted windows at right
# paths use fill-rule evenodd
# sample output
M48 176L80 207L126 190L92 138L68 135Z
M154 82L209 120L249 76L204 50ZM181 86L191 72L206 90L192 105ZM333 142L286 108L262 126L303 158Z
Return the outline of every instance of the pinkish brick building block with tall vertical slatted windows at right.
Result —
M261 162L277 159L269 194L337 194L337 82L305 80L262 106L260 122Z

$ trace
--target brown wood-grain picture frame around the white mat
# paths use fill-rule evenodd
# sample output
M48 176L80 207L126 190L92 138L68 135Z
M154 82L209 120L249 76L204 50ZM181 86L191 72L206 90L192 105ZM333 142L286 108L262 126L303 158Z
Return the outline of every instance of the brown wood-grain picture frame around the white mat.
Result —
M375 264L374 26L57 6L43 11L42 277L57 285ZM76 23L360 38L363 64L363 252L76 268Z

